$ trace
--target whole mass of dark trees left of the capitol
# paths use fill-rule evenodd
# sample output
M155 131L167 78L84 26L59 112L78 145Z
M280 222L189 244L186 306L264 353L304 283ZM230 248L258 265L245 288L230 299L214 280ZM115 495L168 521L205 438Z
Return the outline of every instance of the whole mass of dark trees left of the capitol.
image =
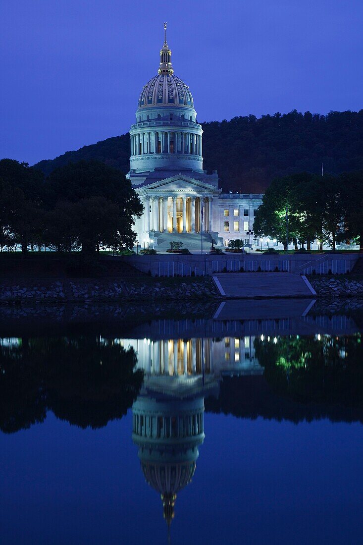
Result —
M100 161L58 167L45 180L25 163L0 161L0 245L46 244L58 251L131 247L142 204L130 180Z

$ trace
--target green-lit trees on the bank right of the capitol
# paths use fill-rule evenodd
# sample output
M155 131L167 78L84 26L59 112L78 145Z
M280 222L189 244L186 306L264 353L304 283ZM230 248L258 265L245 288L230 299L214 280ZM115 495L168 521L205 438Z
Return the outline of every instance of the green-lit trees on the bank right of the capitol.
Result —
M288 243L331 244L357 239L363 249L363 171L334 176L303 172L275 178L253 223L256 237ZM287 215L287 217L286 217ZM286 223L288 220L288 225Z

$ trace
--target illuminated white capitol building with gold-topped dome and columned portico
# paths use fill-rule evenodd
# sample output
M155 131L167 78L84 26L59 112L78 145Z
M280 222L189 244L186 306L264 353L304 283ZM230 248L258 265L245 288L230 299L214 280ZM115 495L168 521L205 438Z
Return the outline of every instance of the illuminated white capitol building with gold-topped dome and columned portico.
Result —
M216 171L203 170L203 130L187 86L174 74L166 40L156 74L142 88L131 126L128 178L144 206L136 219L138 244L159 251L171 241L189 250L228 246L253 227L261 194L222 193Z

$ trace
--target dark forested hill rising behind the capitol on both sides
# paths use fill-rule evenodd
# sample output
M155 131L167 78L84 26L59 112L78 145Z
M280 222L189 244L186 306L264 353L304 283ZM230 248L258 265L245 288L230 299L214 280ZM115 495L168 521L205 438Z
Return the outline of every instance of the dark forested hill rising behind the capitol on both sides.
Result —
M363 110L326 116L296 110L261 118L203 123L204 168L216 169L223 191L263 192L270 181L293 172L338 174L363 169ZM80 159L99 159L129 170L129 134L107 138L36 166L49 174Z

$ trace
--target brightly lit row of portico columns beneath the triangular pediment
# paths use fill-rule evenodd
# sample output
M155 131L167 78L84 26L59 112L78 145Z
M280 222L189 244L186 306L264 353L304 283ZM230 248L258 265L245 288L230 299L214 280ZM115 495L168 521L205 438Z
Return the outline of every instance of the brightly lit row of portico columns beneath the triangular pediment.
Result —
M200 233L213 231L213 199L195 196L150 197L143 201L143 231Z

